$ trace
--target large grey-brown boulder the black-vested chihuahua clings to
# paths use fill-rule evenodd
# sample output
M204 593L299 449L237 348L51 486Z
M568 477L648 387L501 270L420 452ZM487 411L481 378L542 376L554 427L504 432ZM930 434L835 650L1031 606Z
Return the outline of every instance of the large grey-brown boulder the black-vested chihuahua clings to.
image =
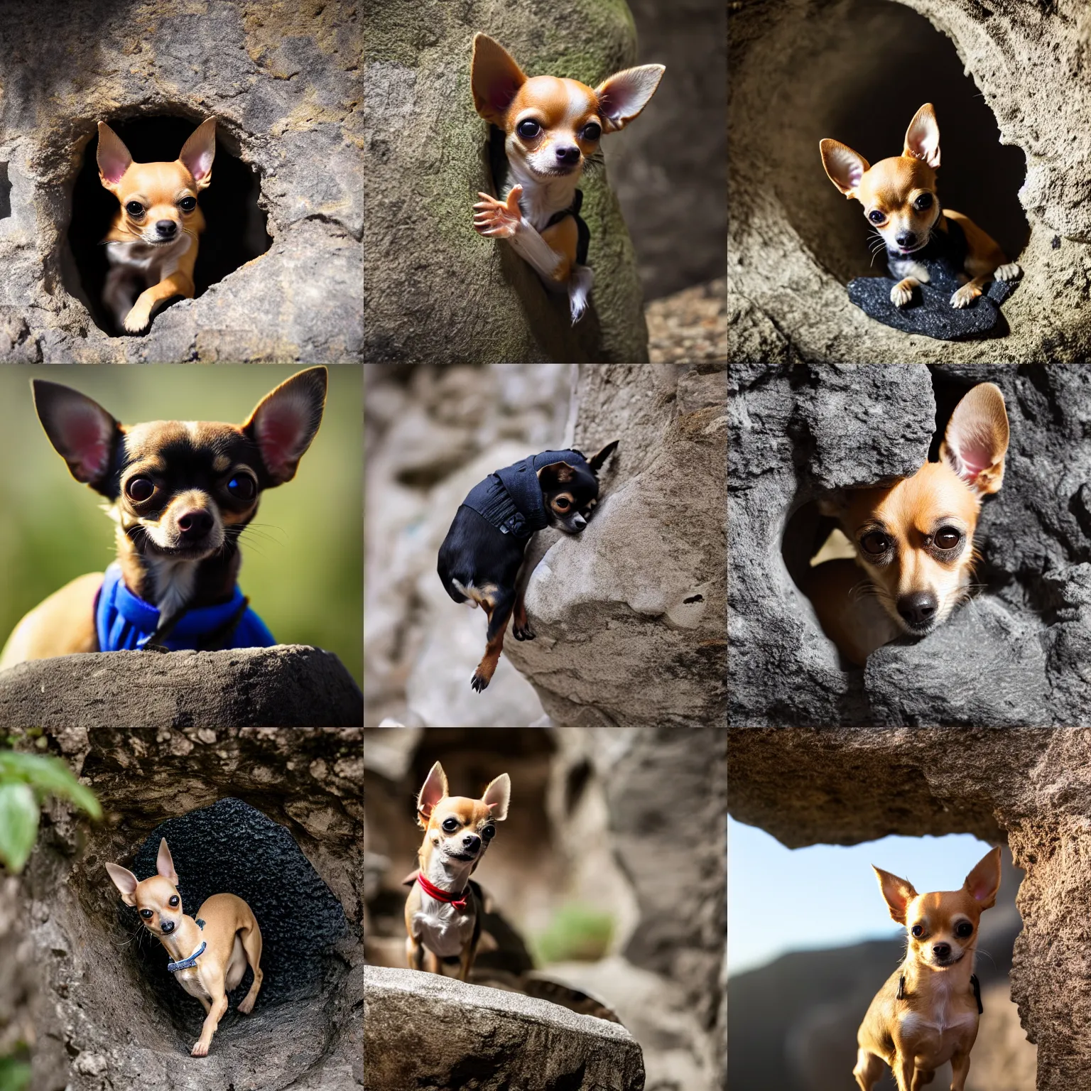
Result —
M580 370L566 444L620 445L587 529L528 547L537 636L504 645L554 723L723 722L726 393L715 362Z

